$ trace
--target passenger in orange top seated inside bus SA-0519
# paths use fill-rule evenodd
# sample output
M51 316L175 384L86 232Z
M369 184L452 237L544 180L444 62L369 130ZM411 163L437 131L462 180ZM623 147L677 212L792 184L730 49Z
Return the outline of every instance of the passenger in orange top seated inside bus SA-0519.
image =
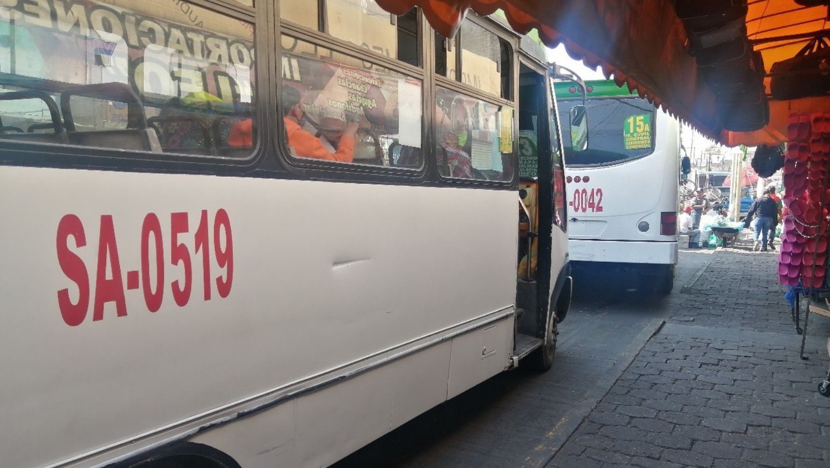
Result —
M330 152L315 135L302 129L300 123L305 120L305 112L301 106L300 91L293 86L285 86L282 92L283 121L286 123L288 144L294 148L295 155L300 158L314 158L319 160L333 160L352 162L354 158L354 134L358 130L358 123L347 122L339 133L337 150ZM251 119L239 121L231 128L231 135L227 144L231 146L251 146L253 144L253 129Z

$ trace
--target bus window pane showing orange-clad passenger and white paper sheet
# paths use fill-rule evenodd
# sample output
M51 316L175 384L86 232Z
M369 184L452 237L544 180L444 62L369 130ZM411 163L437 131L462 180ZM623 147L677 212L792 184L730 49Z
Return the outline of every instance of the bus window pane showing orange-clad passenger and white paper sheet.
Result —
M421 167L420 80L294 37L281 42L292 156Z

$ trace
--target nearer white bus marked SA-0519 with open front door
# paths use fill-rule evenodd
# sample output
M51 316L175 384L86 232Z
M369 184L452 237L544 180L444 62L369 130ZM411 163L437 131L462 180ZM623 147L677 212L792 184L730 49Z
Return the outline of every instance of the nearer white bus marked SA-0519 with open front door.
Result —
M543 57L370 0L3 2L0 465L329 466L549 368Z

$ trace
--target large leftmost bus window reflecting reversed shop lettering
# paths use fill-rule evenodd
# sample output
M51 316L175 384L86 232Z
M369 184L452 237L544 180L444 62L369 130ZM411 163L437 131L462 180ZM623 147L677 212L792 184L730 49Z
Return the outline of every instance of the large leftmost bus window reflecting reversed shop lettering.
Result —
M10 93L0 120L25 131L2 131L0 139L37 143L43 133L61 133L49 142L247 156L251 145L234 147L228 135L252 118L254 27L179 3L4 7L0 31L13 30L14 40L0 42L0 92Z

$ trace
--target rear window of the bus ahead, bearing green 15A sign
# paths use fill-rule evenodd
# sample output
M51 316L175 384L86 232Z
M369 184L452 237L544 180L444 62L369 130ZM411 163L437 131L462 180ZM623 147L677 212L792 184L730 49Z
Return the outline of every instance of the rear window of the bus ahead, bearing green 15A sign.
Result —
M565 166L615 165L652 154L654 150L654 106L636 96L589 99L588 148L574 151L569 111L582 100L559 102Z

